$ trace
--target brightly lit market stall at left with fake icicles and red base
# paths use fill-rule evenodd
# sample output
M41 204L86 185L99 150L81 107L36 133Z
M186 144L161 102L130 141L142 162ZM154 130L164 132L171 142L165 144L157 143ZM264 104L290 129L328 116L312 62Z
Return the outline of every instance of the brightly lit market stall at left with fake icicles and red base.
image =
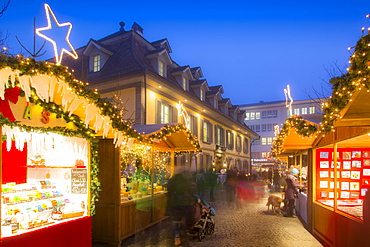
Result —
M0 55L0 112L0 245L91 246L96 136L136 132L65 67L21 57Z

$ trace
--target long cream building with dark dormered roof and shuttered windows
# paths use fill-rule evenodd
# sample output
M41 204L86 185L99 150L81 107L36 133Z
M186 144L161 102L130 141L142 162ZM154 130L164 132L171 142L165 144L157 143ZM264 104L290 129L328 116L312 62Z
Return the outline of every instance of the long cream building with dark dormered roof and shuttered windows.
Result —
M110 99L132 124L183 123L197 136L202 153L185 154L176 164L193 171L214 167L250 170L251 139L258 134L244 123L245 111L210 86L200 67L172 60L167 39L147 41L137 23L76 50L64 62L75 76ZM186 47L185 47L186 49ZM119 117L119 116L117 116Z

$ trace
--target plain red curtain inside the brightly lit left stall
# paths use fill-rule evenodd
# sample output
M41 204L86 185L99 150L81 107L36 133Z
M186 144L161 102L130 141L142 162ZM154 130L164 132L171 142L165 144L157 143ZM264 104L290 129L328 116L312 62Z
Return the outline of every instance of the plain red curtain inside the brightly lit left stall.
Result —
M6 150L6 141L2 146L2 184L15 182L22 184L27 182L27 143L23 151L15 148L12 141L12 149Z

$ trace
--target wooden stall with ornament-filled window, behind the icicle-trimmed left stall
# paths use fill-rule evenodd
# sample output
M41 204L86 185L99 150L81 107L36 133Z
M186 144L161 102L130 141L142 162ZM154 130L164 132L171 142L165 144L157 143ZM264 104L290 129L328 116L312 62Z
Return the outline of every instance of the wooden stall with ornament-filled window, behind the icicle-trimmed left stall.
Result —
M99 141L102 193L93 217L93 241L121 241L166 218L166 181L175 155L198 152L199 144L182 124L134 125L143 141L126 140L116 148Z

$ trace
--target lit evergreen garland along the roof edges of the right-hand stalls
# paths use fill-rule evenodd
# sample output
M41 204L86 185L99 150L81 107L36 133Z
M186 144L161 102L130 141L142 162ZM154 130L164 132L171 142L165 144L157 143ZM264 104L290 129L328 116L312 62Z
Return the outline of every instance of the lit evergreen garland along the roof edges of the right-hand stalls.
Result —
M352 49L351 47L349 49ZM302 137L317 137L320 133L325 136L329 132L335 131L334 124L341 118L340 111L343 110L357 90L367 90L370 92L370 34L362 36L355 46L347 68L348 73L330 80L333 85L332 95L323 104L324 115L320 128L308 124L301 117L288 118L277 139L273 142L271 156L276 157L283 152L283 143L289 132L293 128Z

